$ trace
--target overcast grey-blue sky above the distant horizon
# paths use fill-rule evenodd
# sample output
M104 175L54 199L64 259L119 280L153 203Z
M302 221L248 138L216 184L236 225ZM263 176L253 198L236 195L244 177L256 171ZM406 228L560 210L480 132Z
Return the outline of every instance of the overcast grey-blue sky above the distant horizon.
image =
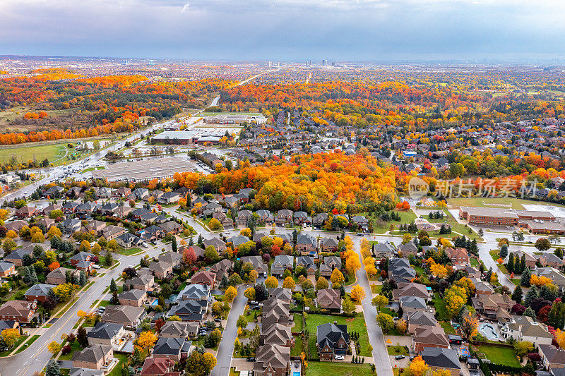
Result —
M565 56L564 0L0 0L0 54L181 59Z

